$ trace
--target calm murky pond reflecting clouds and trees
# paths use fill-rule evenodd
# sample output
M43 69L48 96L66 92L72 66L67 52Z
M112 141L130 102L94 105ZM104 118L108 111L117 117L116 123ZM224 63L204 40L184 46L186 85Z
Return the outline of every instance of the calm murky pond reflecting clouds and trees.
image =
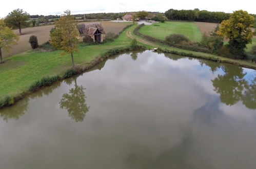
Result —
M151 51L0 110L0 168L256 168L256 71Z

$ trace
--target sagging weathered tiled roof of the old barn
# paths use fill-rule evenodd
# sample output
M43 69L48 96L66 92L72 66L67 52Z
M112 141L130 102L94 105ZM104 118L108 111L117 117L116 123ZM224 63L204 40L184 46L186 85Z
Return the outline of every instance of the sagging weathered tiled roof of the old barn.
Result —
M85 35L93 36L97 30L99 30L102 34L105 34L105 31L101 23L80 24L80 25L77 25L77 29L80 35L82 36L85 36Z

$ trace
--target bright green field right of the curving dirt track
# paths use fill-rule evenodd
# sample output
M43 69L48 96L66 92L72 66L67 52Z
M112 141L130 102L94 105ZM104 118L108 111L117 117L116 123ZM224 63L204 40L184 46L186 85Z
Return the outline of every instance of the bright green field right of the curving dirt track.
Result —
M139 32L162 40L164 40L166 36L174 33L183 34L191 41L200 41L202 37L200 29L192 22L165 22L145 25Z

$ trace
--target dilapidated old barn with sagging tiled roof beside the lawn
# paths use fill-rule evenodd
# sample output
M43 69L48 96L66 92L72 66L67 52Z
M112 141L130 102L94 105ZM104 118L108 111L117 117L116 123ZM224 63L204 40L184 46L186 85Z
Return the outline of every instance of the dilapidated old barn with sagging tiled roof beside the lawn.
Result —
M106 33L102 27L101 23L87 23L80 24L77 26L80 37L90 37L93 42L102 43L103 39L105 39Z

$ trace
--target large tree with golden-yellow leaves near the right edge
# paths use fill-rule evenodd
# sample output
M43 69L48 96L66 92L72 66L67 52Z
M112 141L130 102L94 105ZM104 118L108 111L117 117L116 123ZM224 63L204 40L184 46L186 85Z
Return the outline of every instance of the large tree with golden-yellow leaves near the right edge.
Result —
M245 57L246 45L251 43L253 20L253 16L247 11L234 11L228 20L223 20L217 32L218 35L229 39L227 47L237 59Z

